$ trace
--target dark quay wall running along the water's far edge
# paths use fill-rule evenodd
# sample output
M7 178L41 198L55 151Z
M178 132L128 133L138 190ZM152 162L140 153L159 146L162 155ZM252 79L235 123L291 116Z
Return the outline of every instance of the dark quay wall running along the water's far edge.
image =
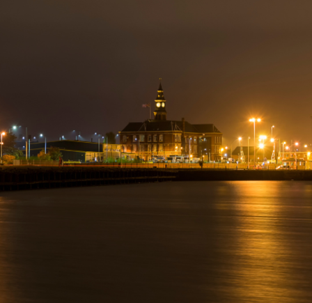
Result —
M4 166L0 191L166 181L312 180L312 171Z

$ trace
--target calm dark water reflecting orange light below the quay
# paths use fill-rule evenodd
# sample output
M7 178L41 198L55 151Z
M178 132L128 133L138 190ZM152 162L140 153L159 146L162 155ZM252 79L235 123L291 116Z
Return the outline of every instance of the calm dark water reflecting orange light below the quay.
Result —
M312 302L312 182L0 194L0 302Z

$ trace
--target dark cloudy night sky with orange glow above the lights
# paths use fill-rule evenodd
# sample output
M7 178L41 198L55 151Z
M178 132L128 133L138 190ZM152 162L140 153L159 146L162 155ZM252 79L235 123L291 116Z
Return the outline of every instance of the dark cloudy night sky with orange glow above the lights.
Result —
M48 139L167 117L311 143L312 1L2 1L0 125Z

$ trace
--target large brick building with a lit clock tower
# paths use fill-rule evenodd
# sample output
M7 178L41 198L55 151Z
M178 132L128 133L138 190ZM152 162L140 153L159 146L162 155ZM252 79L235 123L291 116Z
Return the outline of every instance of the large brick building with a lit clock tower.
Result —
M152 160L155 157L182 156L204 161L221 161L222 133L213 124L191 124L167 120L162 83L157 90L154 118L130 122L120 134L123 155Z

